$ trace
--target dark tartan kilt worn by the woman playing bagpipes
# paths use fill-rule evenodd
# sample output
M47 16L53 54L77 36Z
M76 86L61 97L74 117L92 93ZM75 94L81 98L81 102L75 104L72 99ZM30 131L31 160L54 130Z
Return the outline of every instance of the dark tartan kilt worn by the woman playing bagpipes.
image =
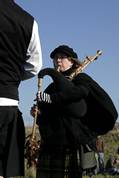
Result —
M41 148L36 178L81 178L79 149Z

